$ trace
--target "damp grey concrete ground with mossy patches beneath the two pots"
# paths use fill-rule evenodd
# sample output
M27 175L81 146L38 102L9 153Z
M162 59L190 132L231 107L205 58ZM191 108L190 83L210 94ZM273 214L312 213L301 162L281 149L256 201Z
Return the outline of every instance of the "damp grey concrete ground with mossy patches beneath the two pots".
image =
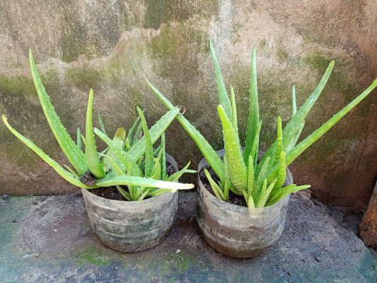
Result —
M1 198L0 282L377 282L376 260L354 233L357 219L308 192L291 197L279 241L248 260L204 243L195 192L180 193L179 205L166 241L127 254L100 243L79 192Z

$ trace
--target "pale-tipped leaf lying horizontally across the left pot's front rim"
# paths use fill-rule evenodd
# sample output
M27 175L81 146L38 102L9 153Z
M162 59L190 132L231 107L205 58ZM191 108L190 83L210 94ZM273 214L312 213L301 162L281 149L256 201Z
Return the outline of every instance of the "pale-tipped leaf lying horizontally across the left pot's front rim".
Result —
M190 190L194 187L192 184L182 184L175 182L166 182L161 180L153 180L150 178L137 177L132 175L112 175L111 177L99 179L95 182L99 187L110 187L112 185L131 185L138 187L158 187L169 190Z

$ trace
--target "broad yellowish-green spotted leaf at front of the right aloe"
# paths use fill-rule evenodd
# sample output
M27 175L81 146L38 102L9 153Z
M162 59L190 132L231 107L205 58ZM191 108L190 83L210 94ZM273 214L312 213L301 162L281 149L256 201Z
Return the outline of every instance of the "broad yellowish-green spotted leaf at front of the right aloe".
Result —
M226 116L224 108L219 105L217 110L223 127L224 149L229 163L229 178L234 187L236 187L236 190L241 192L248 187L248 171L243 162L238 135L234 131L231 121Z

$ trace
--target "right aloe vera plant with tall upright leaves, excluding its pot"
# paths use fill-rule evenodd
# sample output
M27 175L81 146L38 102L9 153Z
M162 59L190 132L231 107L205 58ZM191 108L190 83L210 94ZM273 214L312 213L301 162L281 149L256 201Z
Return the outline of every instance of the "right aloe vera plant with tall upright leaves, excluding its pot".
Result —
M296 89L293 87L291 120L283 129L281 117L277 118L277 138L258 162L257 156L262 121L260 120L258 105L255 48L253 48L250 67L249 117L245 147L243 149L238 136L236 100L233 87L230 87L231 99L229 99L212 42L209 42L209 45L219 94L217 110L224 134L224 160L217 156L216 151L208 141L185 117L177 116L176 119L194 139L204 158L207 159L207 162L219 178L218 181L213 180L207 169L204 169L214 195L226 201L228 200L229 190L231 190L236 195L243 195L248 207L265 207L279 202L279 200L282 200L292 192L310 187L310 185L297 186L295 184L284 187L286 167L303 151L308 149L311 144L322 137L347 112L368 96L377 86L377 79L351 103L298 144L297 141L305 125L306 115L308 115L318 96L323 91L335 63L332 61L329 64L318 86L298 110L296 110ZM163 104L168 109L173 109L170 101L148 80L146 81Z

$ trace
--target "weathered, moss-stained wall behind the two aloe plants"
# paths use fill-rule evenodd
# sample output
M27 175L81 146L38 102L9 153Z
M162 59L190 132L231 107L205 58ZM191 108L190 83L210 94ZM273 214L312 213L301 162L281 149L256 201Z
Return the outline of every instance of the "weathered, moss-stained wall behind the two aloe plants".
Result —
M136 105L149 122L165 108L144 76L175 104L216 149L222 146L209 38L233 84L240 132L248 112L250 54L257 47L263 120L262 146L276 137L276 117L289 120L291 85L298 104L327 64L335 70L306 120L303 136L319 127L377 76L377 2L79 0L0 2L0 112L48 154L64 162L37 100L28 68L32 48L47 92L71 134L83 129L89 88L108 132L129 127ZM366 206L377 175L377 96L358 105L291 168L323 200ZM0 192L76 190L13 137L1 123ZM168 150L193 168L200 153L178 122Z

